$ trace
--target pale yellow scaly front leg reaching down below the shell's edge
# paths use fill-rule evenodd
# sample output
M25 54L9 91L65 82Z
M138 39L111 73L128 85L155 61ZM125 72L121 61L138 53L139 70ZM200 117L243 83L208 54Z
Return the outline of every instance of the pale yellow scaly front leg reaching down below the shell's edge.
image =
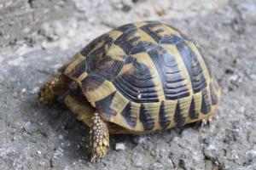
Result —
M92 116L90 126L90 161L98 161L102 159L102 157L106 156L108 147L109 132L107 124L102 121L102 118L97 113L95 113L94 116Z

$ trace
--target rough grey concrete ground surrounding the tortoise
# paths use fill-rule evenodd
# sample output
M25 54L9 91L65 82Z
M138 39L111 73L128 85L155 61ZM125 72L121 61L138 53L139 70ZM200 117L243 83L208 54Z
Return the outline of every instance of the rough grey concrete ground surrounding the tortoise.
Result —
M256 169L255 1L9 1L22 13L7 2L0 5L0 169ZM64 106L38 105L38 88L100 33L151 19L205 48L222 102L211 127L111 136L108 156L92 164L87 127ZM126 149L114 150L117 142Z

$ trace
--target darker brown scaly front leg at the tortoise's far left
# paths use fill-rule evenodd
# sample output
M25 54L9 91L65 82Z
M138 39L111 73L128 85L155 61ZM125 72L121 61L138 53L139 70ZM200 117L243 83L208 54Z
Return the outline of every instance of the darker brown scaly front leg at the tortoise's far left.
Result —
M67 90L68 78L64 75L54 77L46 82L38 92L38 100L42 104L52 104L57 97Z

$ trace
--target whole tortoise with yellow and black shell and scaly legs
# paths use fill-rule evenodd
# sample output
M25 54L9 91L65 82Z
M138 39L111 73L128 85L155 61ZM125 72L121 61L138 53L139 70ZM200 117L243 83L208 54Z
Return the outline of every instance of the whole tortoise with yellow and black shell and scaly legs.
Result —
M90 127L91 161L105 156L109 133L153 133L208 120L221 89L203 49L160 21L119 26L96 37L38 93L59 96Z

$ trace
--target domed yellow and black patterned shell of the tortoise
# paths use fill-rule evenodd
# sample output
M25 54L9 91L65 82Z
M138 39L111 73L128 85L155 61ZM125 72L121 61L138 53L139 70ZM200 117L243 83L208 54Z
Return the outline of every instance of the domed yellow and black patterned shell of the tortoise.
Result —
M108 121L116 123L119 118L115 117L122 116L125 122L117 124L133 131L195 122L218 104L218 84L202 49L166 24L148 21L119 26L90 42L80 54L84 59L67 75L88 74L81 80L85 96L108 84L103 99L91 101L92 105ZM122 111L113 104L117 93L125 102ZM139 104L137 110L133 104Z

